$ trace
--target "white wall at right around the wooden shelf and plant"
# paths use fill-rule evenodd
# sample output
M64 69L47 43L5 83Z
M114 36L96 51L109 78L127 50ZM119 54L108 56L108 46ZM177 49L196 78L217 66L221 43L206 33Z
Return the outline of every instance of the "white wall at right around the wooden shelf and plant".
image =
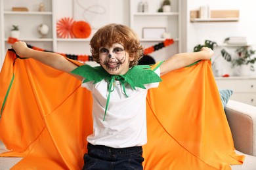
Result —
M192 52L194 46L203 44L205 40L215 41L217 44L223 44L226 37L244 36L247 37L248 44L256 49L256 1L253 0L187 0L187 33L186 33L186 51ZM198 10L202 5L209 5L211 10L240 10L239 22L190 22L190 10ZM236 47L216 47L213 61L217 69L222 74L234 75L230 62L224 60L221 56L221 49L234 54ZM249 67L249 65L248 65ZM256 64L255 64L256 68ZM251 75L256 75L250 73Z

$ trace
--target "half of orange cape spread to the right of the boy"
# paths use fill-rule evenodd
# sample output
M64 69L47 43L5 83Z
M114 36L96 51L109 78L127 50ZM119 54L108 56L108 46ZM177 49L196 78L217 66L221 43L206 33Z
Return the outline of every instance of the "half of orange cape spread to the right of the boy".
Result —
M147 97L145 169L230 169L234 152L211 61L172 71Z

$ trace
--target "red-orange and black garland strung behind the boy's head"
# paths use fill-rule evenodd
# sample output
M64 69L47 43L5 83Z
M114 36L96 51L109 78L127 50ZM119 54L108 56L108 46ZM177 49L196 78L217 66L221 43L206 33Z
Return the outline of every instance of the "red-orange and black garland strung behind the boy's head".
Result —
M12 37L9 37L8 42L10 44L13 44L15 41L18 41L18 40L14 39ZM146 56L146 55L148 55L152 52L155 52L156 50L160 50L161 48L169 46L173 43L174 43L173 39L165 39L165 41L162 41L158 44L155 44L154 46L150 46L148 48L145 48L144 49L144 56ZM52 51L49 51L49 50L45 50L43 48L38 48L36 46L32 46L30 44L27 44L27 45L28 45L29 48L32 48L33 50L39 50L39 51L43 51L43 52L52 52ZM77 61L82 61L83 63L86 62L86 61L93 61L93 56L89 56L89 55L64 54L64 53L58 53L58 52L56 52L56 53L66 57L66 58L74 59L74 60L77 60Z

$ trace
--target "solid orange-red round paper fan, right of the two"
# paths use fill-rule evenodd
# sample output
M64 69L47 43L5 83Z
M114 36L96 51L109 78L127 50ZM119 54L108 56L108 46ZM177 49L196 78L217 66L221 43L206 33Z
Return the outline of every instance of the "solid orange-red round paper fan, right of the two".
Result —
M91 26L84 21L74 22L72 33L76 38L86 39L91 35Z

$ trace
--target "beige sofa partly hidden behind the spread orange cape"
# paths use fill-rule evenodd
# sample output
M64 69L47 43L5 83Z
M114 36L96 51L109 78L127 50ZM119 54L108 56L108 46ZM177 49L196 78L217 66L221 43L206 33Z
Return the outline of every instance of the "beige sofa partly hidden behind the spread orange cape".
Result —
M256 107L228 100L225 105L226 118L232 136L234 146L238 154L244 154L245 160L242 165L232 165L232 169L256 169ZM5 146L0 141L0 152L5 152ZM0 169L10 169L22 158L1 158Z

